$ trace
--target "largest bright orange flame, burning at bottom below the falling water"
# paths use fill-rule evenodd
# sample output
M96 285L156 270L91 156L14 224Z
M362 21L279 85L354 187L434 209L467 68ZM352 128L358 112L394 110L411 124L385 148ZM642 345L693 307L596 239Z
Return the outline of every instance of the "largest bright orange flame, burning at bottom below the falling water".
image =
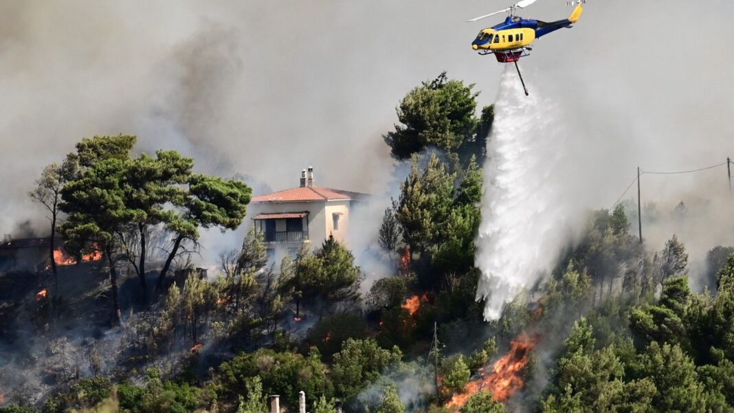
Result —
M479 369L479 377L470 381L464 392L454 395L446 404L446 407L459 409L476 392L492 392L496 401L506 401L512 395L525 386L521 376L523 369L528 364L528 354L535 348L539 337L537 335L520 335L510 342L512 348L501 359L495 362L491 371L486 368Z

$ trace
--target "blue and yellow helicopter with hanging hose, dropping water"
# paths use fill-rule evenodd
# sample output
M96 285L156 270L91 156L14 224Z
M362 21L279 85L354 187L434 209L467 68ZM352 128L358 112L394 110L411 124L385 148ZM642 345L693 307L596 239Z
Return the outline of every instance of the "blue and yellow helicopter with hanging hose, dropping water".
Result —
M586 4L586 0L567 1L567 6L576 6L569 18L550 23L521 18L516 15L517 9L524 9L535 1L521 0L504 10L468 20L468 22L479 21L483 18L509 12L509 15L502 23L488 29L482 29L476 39L471 43L471 47L479 51L479 54L483 56L494 54L500 63L515 63L517 76L520 76L520 82L523 84L526 96L529 95L528 88L525 86L525 81L523 81L523 75L520 73L520 67L517 66L517 61L521 57L530 56L528 51L533 50L531 45L534 40L545 36L545 34L555 32L558 29L563 29L564 27L570 29L573 23L576 23L581 18L581 12L584 12L584 7L581 4Z

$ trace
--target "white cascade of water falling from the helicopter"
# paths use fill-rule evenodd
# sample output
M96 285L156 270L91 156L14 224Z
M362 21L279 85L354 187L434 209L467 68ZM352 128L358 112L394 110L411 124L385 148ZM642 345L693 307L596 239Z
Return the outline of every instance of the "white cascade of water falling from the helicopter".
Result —
M566 176L564 128L557 108L530 85L526 97L514 65L506 65L484 164L482 224L476 266L484 318L534 285L553 266L573 216L572 197L549 184Z

